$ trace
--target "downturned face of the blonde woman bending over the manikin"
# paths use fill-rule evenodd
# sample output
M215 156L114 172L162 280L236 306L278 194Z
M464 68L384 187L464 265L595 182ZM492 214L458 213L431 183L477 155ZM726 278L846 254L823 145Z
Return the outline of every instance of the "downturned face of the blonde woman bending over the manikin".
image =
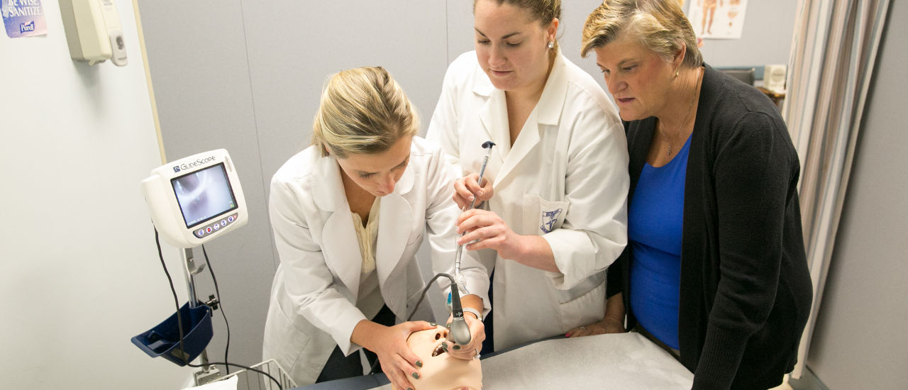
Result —
M377 154L350 154L337 159L343 174L362 190L374 197L383 197L394 192L403 171L410 162L410 144L413 137L403 137L387 151Z

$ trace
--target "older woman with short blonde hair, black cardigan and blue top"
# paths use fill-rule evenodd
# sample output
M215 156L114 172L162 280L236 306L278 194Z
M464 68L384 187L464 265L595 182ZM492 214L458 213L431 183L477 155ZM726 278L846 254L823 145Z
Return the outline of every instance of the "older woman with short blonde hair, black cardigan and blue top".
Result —
M627 321L695 389L779 385L812 297L785 122L763 93L703 63L676 0L606 0L582 47L625 121L631 185L606 316L572 333Z

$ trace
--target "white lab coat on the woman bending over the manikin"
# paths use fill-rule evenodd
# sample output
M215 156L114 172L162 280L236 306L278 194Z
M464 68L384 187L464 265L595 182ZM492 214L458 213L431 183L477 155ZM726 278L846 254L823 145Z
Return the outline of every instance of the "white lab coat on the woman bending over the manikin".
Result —
M433 270L453 268L456 177L437 145L414 137L410 164L394 192L381 199L375 266L381 296L399 322L425 286L415 261L423 231ZM355 306L362 257L337 161L321 157L316 147L291 157L271 179L269 210L281 264L271 286L262 356L277 360L297 385L307 385L318 378L334 346L345 355L360 348L350 335L360 320L369 319ZM463 256L462 273L467 288L488 302L485 268ZM425 302L420 313L430 313Z

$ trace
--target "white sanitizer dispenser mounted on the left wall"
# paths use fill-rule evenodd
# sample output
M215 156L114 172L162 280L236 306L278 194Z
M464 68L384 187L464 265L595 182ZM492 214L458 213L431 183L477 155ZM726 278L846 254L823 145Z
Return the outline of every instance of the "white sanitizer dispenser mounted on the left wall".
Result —
M125 66L126 45L114 0L60 0L69 54L89 64Z

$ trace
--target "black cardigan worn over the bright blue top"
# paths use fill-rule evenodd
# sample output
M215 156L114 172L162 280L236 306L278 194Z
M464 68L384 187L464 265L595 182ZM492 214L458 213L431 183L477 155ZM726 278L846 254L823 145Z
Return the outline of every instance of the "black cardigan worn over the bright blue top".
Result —
M800 164L773 102L704 67L685 182L680 360L695 374L695 389L765 389L794 368L813 296ZM625 122L628 202L655 125L655 117ZM629 261L626 249L609 268L608 295L624 292L633 327Z

